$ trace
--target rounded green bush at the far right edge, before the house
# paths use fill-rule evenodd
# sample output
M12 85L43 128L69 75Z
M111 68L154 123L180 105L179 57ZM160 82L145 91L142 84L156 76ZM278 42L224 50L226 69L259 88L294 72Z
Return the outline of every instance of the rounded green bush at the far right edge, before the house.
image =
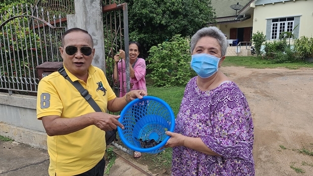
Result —
M313 38L301 36L293 43L295 53L304 61L313 62Z

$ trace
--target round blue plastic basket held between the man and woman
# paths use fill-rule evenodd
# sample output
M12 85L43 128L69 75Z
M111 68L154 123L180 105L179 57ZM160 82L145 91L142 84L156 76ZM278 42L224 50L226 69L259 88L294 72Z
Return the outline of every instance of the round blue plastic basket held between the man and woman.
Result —
M143 153L160 153L170 136L166 131L173 132L175 116L171 107L162 99L144 96L128 103L121 112L119 122L124 130L118 127L122 142L130 149ZM150 148L142 148L139 139L161 142Z

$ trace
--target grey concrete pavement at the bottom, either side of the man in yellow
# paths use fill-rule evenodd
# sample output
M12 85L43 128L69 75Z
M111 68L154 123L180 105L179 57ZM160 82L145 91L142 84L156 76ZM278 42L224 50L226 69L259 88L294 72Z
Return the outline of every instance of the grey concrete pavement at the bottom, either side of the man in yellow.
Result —
M152 175L146 166L133 164L128 154L116 150L118 157L110 169L110 176ZM129 156L130 157L130 156ZM17 142L0 141L1 176L46 176L48 175L49 156L46 150L37 149ZM147 171L147 172L146 172Z

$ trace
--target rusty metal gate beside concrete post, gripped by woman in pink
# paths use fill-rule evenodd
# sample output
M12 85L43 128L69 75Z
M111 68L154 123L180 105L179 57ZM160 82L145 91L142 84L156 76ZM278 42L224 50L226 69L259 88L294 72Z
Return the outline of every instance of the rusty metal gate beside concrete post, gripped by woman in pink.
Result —
M120 94L120 82L114 80L114 55L123 49L125 51L125 63L129 63L129 46L128 46L128 10L127 3L120 4L121 1L103 1L103 28L105 40L106 55L106 76L109 84L114 89L115 94ZM121 60L121 62L124 62ZM126 64L126 82L122 87L130 91L129 65ZM123 75L123 74L122 74ZM123 76L122 78L123 79Z

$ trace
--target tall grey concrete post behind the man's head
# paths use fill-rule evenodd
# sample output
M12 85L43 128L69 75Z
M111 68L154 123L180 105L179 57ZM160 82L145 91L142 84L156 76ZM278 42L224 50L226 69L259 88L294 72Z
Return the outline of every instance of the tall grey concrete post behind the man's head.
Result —
M75 0L75 15L67 15L68 29L78 27L89 32L93 39L95 54L92 65L106 73L105 42L103 40L103 17L101 0Z

